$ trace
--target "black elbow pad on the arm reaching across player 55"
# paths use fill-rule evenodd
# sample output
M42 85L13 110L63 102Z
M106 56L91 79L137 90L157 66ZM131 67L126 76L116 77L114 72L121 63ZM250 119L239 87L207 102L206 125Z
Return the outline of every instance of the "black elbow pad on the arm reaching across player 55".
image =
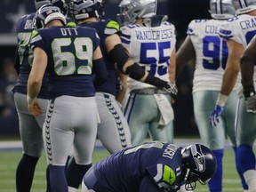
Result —
M116 46L110 52L108 52L108 57L110 60L116 62L117 68L119 68L119 70L122 72L124 64L130 58L122 44L116 44Z

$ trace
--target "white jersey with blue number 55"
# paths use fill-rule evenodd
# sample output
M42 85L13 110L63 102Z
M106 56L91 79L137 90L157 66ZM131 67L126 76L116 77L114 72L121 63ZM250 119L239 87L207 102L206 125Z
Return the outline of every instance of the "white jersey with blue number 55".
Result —
M122 43L132 59L144 67L151 75L170 82L168 67L176 44L175 27L164 21L159 27L127 25L121 28ZM154 87L128 77L128 89Z

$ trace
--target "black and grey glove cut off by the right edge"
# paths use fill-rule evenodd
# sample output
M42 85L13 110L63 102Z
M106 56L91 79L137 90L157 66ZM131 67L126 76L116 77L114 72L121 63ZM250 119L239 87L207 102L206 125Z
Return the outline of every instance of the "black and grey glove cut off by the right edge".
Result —
M244 86L245 108L249 113L256 113L256 93L253 85Z

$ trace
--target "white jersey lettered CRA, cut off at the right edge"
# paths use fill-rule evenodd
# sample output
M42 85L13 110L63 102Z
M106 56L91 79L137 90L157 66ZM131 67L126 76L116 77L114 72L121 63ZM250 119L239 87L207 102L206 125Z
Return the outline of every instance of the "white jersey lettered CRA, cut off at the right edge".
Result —
M248 14L242 14L228 20L227 25L220 29L220 36L226 39L232 39L244 48L250 43L252 37L256 34L256 17ZM256 84L256 64L253 74L254 84Z

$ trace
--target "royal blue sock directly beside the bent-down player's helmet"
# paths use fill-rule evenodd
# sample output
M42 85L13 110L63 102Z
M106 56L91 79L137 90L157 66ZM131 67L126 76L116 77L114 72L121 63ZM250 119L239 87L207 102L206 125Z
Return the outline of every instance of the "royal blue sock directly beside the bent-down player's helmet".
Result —
M216 157L217 169L212 179L208 182L210 192L221 192L222 191L222 158L224 154L223 149L212 150L212 153Z

